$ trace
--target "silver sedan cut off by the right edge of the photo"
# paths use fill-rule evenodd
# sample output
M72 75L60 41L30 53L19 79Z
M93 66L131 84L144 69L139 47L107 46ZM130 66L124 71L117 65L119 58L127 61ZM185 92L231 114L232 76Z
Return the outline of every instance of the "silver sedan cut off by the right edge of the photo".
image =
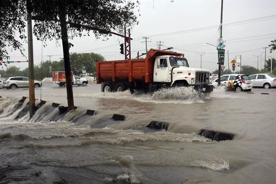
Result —
M264 87L269 89L276 87L276 75L273 74L253 74L249 78L252 81L253 87Z

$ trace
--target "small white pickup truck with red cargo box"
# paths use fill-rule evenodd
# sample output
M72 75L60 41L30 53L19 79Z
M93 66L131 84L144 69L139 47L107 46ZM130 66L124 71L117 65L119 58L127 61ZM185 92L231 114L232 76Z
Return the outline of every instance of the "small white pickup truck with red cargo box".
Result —
M80 78L78 76L73 75L71 72L72 85L87 85L88 81L86 78ZM52 80L53 84L59 85L60 87L66 86L66 78L65 72L52 72Z

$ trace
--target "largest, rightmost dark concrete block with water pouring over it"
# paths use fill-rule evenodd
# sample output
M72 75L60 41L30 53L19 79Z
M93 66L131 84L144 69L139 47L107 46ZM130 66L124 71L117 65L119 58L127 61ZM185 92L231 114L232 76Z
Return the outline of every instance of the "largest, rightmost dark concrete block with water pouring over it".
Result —
M198 132L198 135L204 136L208 139L212 139L212 141L233 140L235 137L235 134L233 133L220 132L220 131L207 130L207 129L201 129Z

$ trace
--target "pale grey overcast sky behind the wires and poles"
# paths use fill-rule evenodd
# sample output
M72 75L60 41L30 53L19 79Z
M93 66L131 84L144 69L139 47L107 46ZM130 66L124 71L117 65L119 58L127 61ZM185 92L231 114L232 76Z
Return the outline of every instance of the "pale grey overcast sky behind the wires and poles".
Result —
M202 68L209 69L211 72L218 68L216 47L204 43L216 45L221 15L220 0L174 0L174 2L170 2L170 0L140 0L140 3L141 16L135 9L139 24L134 25L131 30L132 58L137 56L138 50L140 53L145 52L145 42L143 42L145 39L142 37L149 37L148 40L151 42L147 43L148 49L156 49L157 42L161 41L161 44L164 45L161 48L175 47L173 51L184 53L190 67L193 68L200 68L200 56L196 53L207 52L202 56ZM252 55L262 55L263 47L276 38L275 10L276 0L224 0L223 24L225 26L223 26L222 35L223 40L226 41L226 69L228 68L227 51L229 51L230 62L236 55L241 55L241 64L257 68L257 57ZM122 38L118 36L112 36L108 41L96 40L91 32L89 37L69 40L74 44L74 47L70 48L70 52L95 52L103 55L106 60L121 60L124 59L124 55L120 54L119 46L122 41ZM61 41L59 43L62 44ZM38 64L41 62L41 41L37 41L34 37L33 45L34 64ZM27 44L25 44L25 49L25 53L28 55ZM276 56L276 51L269 53L269 48L266 53L267 57ZM47 47L43 47L42 55L42 60L49 60L47 55L53 55L51 60L59 61L60 57L63 57L62 46L56 47L55 41L48 41ZM10 61L25 60L24 57L20 57L18 51L10 52L10 56ZM260 60L262 60L261 63ZM16 63L9 66L12 65L24 69L28 63ZM259 68L263 65L264 55L259 57Z

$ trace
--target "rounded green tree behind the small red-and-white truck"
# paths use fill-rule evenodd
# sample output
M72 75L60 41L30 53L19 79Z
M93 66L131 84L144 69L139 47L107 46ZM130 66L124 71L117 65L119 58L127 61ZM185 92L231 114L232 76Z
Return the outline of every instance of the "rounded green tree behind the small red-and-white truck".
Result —
M85 67L87 73L96 72L96 61L105 61L101 54L97 53L70 53L70 65L72 71L76 75L82 74L82 69ZM63 58L60 60L63 62Z

